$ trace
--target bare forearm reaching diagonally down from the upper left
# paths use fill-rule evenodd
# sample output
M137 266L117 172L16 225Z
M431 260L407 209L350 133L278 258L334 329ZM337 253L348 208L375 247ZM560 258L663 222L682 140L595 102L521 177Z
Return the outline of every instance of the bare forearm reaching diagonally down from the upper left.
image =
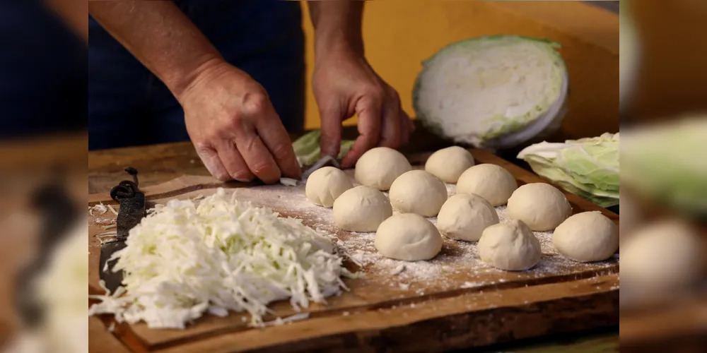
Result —
M172 1L88 1L115 39L162 80L177 100L223 58Z

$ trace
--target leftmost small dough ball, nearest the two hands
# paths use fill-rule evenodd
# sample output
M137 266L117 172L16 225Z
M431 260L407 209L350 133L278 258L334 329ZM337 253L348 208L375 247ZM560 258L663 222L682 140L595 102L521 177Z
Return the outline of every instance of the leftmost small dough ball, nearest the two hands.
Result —
M315 205L332 207L334 200L353 187L354 184L343 170L322 167L310 174L305 186L305 195Z

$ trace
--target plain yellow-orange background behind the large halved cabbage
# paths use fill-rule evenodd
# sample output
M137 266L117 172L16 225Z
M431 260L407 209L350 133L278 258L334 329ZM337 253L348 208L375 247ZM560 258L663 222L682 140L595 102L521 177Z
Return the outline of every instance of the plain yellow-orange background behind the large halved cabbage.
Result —
M305 2L302 2L306 10ZM313 29L307 38L307 128L319 127L312 96ZM396 88L414 116L411 92L421 61L450 42L481 35L547 37L563 45L570 73L570 110L558 139L619 130L619 16L575 1L367 1L363 40L368 61ZM346 121L356 124L356 119Z

